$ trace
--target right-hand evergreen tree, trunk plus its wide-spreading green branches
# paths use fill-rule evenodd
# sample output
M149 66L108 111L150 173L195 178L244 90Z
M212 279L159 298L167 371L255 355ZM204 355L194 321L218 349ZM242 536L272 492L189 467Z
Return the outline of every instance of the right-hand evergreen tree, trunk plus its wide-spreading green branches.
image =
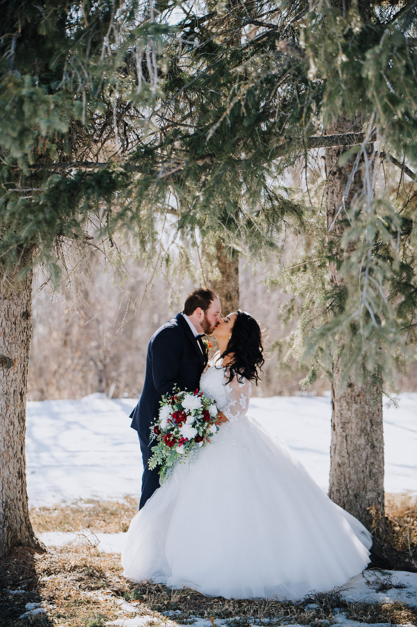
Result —
M407 350L416 307L414 193L404 184L405 173L415 178L416 9L361 0L203 9L180 24L151 159L175 190L183 231L221 233L255 254L308 219L315 249L297 278L296 348L309 349L308 380L321 369L332 381L331 494L372 527L384 516L381 385L393 346ZM327 222L320 202L305 212L283 189L288 168L308 169L317 148Z

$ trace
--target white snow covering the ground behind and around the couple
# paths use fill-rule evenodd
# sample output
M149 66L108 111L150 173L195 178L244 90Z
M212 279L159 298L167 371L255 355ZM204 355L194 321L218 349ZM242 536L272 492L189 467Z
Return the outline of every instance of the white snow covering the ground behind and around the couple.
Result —
M135 404L132 399L109 399L104 394L93 394L81 401L29 402L26 443L29 504L139 497L141 456L128 417ZM274 437L285 440L315 481L327 490L329 398L253 398L249 415L262 422ZM384 409L384 437L386 491L417 493L417 394L402 394L398 408ZM123 546L125 534L88 536L88 533L49 533L40 537L48 545L93 541L102 551L116 553ZM343 595L352 601L404 601L417 606L417 573L379 573L378 578L391 578L393 583L404 587L377 591L378 582L372 583L375 573L365 571L343 587ZM129 616L134 607L129 610L129 603L125 605L125 615ZM139 627L143 616L123 618L112 624ZM212 627L210 621L201 619L196 620L197 624ZM339 624L356 625L343 614L336 623Z

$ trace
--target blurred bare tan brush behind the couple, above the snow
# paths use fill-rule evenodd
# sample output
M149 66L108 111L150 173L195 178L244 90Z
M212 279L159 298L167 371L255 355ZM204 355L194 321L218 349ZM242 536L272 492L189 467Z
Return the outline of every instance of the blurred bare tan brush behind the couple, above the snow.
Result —
M288 265L292 248L288 247ZM285 362L278 350L279 342L296 324L286 325L282 320L289 295L281 286L267 285L272 268L273 263L249 259L239 264L239 306L259 321L267 355L262 380L253 395L329 394L325 377L303 389L300 382L307 369L292 357ZM155 273L132 253L124 265L120 260L112 265L99 252L84 270L61 291L42 285L42 270L36 273L29 401L77 399L94 392L113 398L139 397L150 337L182 309L187 293L199 286L192 274L165 277ZM197 268L195 272L198 277ZM228 313L223 311L225 316ZM214 338L212 344L215 348ZM415 392L415 363L409 358L402 366L395 373L398 392Z

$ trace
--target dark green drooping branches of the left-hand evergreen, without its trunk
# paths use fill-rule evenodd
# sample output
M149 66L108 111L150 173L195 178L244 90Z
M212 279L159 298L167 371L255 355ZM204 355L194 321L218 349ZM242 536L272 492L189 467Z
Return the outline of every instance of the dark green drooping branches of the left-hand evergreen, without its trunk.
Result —
M117 162L142 140L172 29L135 0L1 8L0 259L56 274L57 242L100 231L129 183Z

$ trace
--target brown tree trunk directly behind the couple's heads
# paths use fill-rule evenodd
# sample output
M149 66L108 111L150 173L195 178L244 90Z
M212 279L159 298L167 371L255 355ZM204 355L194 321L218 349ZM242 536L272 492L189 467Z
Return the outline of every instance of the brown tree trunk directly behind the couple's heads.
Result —
M219 241L215 263L220 278L210 281L210 288L219 296L222 316L227 316L239 309L239 253Z

